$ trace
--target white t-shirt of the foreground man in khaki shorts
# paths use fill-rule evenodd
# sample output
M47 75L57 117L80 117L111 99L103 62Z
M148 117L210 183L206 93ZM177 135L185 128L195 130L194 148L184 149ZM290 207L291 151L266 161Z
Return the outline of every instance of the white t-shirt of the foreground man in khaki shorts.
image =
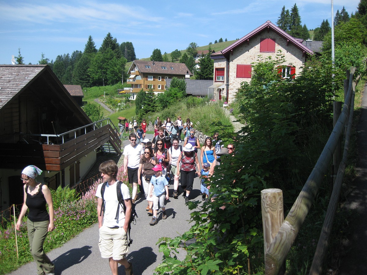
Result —
M102 184L103 183L99 184L97 187L97 192L95 193L95 196L97 198L102 198L101 195ZM108 227L114 227L116 225L119 227L123 227L125 223L124 208L121 205L119 208L120 211L119 220L115 220L117 205L119 204L119 201L117 200L116 187L117 187L117 181L115 184L112 185L109 185L107 183L105 193L103 194L103 198L105 199L105 212L103 214L103 225L106 225ZM124 199L131 198L129 188L124 183L121 183L121 194Z

